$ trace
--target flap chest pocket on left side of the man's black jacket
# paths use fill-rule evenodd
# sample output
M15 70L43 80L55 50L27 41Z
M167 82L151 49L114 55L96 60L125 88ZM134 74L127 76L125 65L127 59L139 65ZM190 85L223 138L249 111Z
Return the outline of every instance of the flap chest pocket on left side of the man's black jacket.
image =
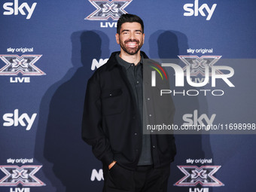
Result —
M119 114L123 111L122 89L102 90L102 114Z

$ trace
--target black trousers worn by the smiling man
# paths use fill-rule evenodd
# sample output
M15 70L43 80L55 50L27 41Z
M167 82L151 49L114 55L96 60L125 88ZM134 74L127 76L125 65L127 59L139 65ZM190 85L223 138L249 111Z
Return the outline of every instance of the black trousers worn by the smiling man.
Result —
M117 163L110 170L103 166L103 192L166 192L169 173L170 166L137 166L134 171Z

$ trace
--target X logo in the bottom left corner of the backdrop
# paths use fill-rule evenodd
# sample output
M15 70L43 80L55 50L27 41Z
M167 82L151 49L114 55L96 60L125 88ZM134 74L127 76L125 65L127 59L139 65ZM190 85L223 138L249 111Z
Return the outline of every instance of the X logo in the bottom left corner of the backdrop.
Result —
M35 177L35 173L41 169L42 166L0 166L5 177L0 180L1 186L23 186L39 187L45 184Z

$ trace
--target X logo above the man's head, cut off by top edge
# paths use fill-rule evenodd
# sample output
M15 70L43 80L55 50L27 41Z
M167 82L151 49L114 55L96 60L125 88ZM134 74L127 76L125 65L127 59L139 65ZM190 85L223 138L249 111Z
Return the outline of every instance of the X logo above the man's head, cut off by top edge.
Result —
M133 0L89 0L89 2L97 9L90 14L85 20L118 20L122 14L127 14L124 11L127 5Z

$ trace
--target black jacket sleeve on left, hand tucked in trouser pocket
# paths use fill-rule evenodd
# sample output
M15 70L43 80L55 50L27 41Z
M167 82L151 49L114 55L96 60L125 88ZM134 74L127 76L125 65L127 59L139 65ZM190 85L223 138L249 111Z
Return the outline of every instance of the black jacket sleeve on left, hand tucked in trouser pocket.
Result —
M99 74L94 74L87 83L82 121L82 139L92 146L93 154L105 165L114 160L108 138L102 129L102 103L100 99Z

